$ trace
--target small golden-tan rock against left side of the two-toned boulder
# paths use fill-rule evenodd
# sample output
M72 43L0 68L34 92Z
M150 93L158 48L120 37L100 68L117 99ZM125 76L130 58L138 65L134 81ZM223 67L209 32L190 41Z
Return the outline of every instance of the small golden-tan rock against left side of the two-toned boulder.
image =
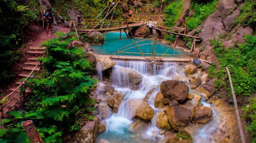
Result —
M157 127L161 128L163 130L171 130L171 125L168 122L167 115L165 112L161 111L157 114L157 119L156 119Z

